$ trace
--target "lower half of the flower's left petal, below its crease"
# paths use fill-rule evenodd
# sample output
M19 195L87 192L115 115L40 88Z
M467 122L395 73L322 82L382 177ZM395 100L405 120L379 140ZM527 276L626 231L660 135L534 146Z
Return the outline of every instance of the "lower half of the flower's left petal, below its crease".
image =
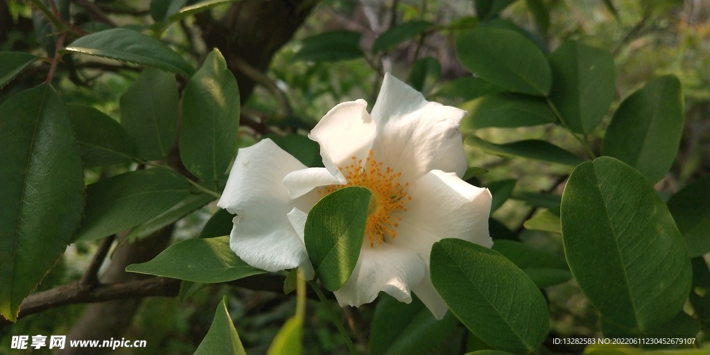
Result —
M229 246L241 260L266 271L310 265L286 214L234 217Z

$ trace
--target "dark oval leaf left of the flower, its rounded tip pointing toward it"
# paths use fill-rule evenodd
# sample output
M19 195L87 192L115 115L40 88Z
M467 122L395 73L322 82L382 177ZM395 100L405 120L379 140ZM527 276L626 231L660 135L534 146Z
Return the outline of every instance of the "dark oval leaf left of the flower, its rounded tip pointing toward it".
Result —
M137 170L87 187L87 208L76 242L103 238L146 222L187 197L190 185L173 170Z

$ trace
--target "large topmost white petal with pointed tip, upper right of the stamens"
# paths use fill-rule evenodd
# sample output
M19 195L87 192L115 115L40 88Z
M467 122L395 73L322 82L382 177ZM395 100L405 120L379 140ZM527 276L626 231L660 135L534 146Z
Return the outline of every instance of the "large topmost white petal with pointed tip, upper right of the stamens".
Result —
M422 94L386 74L375 107L375 158L414 182L431 170L462 177L466 155L459 131L466 111L427 102Z

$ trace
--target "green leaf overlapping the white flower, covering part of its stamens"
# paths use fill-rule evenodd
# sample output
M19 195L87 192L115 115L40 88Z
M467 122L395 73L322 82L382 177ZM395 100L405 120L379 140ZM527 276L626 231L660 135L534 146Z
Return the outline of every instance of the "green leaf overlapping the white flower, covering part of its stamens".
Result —
M343 187L323 197L308 213L306 251L326 290L339 289L355 268L371 196L366 187Z

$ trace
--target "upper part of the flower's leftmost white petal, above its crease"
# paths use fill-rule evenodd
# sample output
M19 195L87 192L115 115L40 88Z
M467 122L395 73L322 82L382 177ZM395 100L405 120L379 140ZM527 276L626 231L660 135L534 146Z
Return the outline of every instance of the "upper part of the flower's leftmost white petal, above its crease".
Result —
M239 149L217 206L232 214L287 214L293 208L283 178L306 168L271 139Z

